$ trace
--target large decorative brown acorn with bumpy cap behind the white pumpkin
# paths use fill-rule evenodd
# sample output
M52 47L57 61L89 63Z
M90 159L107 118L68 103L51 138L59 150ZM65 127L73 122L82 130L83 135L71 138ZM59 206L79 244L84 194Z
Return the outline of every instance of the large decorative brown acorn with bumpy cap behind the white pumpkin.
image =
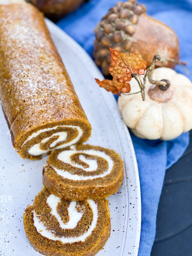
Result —
M94 30L96 40L93 55L103 74L109 74L110 48L127 54L138 51L146 60L147 66L150 66L157 53L165 58L179 59L179 44L175 32L145 12L145 6L137 5L136 0L118 2L97 25ZM167 63L170 68L175 65L173 62ZM163 64L157 62L156 66Z

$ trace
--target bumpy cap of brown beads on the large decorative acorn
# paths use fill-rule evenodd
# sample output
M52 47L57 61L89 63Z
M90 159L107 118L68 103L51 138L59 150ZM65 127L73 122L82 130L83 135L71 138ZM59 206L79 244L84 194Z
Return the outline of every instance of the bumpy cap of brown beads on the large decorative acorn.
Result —
M130 53L138 16L146 11L136 0L118 2L109 9L102 21L94 29L95 42L93 56L102 73L108 75L111 64L110 48Z

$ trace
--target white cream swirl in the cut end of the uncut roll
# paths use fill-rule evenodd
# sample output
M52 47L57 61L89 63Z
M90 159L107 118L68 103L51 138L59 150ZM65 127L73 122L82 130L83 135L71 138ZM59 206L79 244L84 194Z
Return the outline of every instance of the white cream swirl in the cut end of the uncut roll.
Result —
M78 130L78 135L77 135L76 138L74 138L74 139L71 140L70 142L64 143L65 140L66 140L66 138L67 138L67 132L64 132L64 131L63 131L63 132L55 132L55 133L52 134L51 136L46 137L46 138L42 139L39 143L33 145L33 146L28 150L28 153L29 153L30 155L33 155L33 156L38 156L38 155L42 155L42 154L47 154L47 153L48 153L49 151L51 151L51 150L69 147L69 146L71 146L71 145L73 145L73 144L76 144L76 143L80 140L80 138L82 137L82 135L83 135L83 131L82 131L82 129L81 129L79 126L74 126L74 125L58 125L58 126L49 127L49 128L41 129L41 130L39 130L39 131L37 131L37 132L34 132L33 134L31 134L31 135L27 138L27 140L23 143L23 145L24 145L26 142L30 141L31 139L37 137L39 134L41 134L41 133L46 133L46 132L52 131L52 130L56 130L58 127L69 127L69 128L77 129L77 130ZM47 141L48 141L50 138L52 138L53 136L58 136L58 138L57 138L54 142L52 142L52 143L50 144L50 147L51 147L51 148L50 148L49 150L42 150L42 149L40 148L40 144L47 142ZM58 142L61 142L61 141L63 141L63 144L61 144L61 145L55 147L56 144L57 144ZM22 145L22 146L23 146L23 145Z

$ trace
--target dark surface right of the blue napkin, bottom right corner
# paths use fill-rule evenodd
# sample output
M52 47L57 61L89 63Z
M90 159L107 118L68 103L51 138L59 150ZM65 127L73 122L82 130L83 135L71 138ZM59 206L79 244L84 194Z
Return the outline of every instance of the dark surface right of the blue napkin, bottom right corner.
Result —
M192 132L186 152L165 175L151 256L192 256Z

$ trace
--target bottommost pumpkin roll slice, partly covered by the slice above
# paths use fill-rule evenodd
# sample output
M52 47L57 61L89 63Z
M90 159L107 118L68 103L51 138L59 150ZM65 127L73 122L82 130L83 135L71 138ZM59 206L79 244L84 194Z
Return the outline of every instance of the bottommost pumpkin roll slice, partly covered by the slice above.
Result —
M110 236L108 200L69 201L45 187L24 211L31 246L48 256L93 256Z

